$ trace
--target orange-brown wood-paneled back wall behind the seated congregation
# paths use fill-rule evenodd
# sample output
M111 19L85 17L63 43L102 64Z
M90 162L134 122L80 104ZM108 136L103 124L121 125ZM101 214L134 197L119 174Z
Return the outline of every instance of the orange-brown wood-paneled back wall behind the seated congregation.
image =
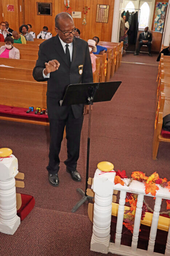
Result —
M36 35L47 26L52 35L55 32L55 15L64 11L64 0L40 0L41 2L52 3L52 16L37 15L35 0L0 0L3 3L4 19L7 20L12 29L19 29L23 23L32 25L32 30ZM22 6L23 3L23 6ZM15 12L7 12L7 4L15 5ZM109 4L108 23L96 22L97 4ZM20 13L20 5L22 13ZM75 27L81 31L81 38L88 40L98 36L101 41L111 41L112 21L114 12L114 0L70 0L72 11L83 11L84 6L90 6L87 13L87 25L82 25L82 18L74 19Z

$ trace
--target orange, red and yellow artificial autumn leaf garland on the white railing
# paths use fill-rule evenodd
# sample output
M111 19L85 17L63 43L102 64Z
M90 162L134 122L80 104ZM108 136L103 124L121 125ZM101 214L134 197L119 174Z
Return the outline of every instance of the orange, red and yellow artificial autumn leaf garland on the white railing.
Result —
M124 181L122 178L127 178L126 171L115 171L115 184L120 183L121 185L124 185ZM152 196L156 196L157 191L159 190L159 187L157 184L159 184L160 187L167 188L170 191L170 181L167 181L167 178L159 178L159 174L157 172L154 172L149 177L145 175L145 173L140 171L135 171L131 174L131 177L134 180L143 182L145 184L145 193L146 195L151 193ZM127 193L128 194L128 193ZM129 193L131 194L131 193ZM133 233L134 228L134 220L135 220L135 211L137 207L137 195L131 194L130 196L126 197L126 202L129 202L130 204L130 210L124 211L124 217L123 217L123 225ZM145 202L145 201L144 201ZM170 200L166 200L167 207L166 209L170 209ZM143 210L142 210L143 211ZM146 210L144 210L146 211ZM145 213L144 213L145 214ZM141 230L139 230L141 231Z

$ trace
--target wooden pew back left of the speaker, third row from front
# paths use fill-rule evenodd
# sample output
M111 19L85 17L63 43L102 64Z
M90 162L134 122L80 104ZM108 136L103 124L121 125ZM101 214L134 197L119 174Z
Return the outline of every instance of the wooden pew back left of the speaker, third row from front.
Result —
M0 65L6 65L13 68L26 68L33 69L35 67L35 60L15 60L15 59L6 59L0 58Z

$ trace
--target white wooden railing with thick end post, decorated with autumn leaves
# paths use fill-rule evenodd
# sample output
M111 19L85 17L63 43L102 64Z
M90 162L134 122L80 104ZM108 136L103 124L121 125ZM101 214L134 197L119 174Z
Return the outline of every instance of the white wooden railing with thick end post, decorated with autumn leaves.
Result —
M128 187L129 179L123 179L125 185L114 185L114 172L102 173L97 169L93 179L92 189L95 192L94 197L94 215L93 215L93 233L91 238L91 251L102 253L115 253L119 255L162 255L154 252L155 238L157 234L159 212L161 208L162 199L170 199L170 192L167 188L162 188L158 184L159 190L156 193L155 206L153 212L153 219L150 229L148 249L142 250L137 248L139 227L141 222L143 197L145 194L145 187L142 182L133 180ZM111 224L111 210L112 210L112 194L113 190L120 191L119 209L116 225L115 243L110 242L110 224ZM131 247L121 245L124 204L126 192L138 194L137 208L135 213L134 231ZM150 193L146 196L152 196ZM165 255L170 255L170 228L167 237Z

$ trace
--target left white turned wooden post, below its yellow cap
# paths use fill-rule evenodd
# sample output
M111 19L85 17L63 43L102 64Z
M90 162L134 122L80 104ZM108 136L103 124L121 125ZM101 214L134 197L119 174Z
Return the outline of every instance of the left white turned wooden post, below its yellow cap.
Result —
M16 215L15 176L18 161L14 155L0 158L0 232L13 235L20 225Z

